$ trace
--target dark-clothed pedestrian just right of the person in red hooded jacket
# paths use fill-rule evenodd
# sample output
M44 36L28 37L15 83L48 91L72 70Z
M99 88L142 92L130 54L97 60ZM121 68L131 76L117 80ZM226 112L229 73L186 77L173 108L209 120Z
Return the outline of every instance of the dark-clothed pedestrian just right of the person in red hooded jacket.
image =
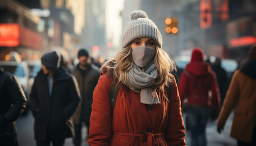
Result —
M213 71L216 74L219 86L219 92L221 94L221 105L224 101L227 92L227 72L224 68L221 67L221 58L216 58L215 63L213 64Z

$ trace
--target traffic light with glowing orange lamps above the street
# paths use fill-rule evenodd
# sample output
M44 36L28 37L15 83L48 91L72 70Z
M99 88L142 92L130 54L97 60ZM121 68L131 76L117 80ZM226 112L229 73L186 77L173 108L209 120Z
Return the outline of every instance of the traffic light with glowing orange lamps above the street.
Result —
M176 17L166 18L165 19L165 32L171 34L177 34L179 19Z

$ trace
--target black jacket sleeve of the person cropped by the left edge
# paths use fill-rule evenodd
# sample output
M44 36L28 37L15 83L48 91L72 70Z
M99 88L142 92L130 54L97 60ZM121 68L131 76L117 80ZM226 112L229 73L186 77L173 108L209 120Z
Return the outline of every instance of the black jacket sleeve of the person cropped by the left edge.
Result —
M23 113L27 100L23 89L13 75L7 79L6 86L13 106L4 114L4 117L8 122L13 122Z

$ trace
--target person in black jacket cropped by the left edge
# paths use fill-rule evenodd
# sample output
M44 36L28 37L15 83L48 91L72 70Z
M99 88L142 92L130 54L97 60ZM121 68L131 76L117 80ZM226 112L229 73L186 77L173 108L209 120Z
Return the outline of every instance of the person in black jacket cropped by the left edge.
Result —
M18 145L15 120L26 108L26 96L14 75L0 68L0 145Z

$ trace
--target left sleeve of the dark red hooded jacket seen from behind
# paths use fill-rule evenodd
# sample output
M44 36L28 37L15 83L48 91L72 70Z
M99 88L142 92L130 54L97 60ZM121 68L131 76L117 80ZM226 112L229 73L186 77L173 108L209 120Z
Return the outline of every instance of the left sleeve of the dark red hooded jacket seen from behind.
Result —
M179 94L180 94L180 100L183 102L185 97L188 93L188 78L187 75L185 75L185 72L182 72L180 75L180 82L179 82Z

